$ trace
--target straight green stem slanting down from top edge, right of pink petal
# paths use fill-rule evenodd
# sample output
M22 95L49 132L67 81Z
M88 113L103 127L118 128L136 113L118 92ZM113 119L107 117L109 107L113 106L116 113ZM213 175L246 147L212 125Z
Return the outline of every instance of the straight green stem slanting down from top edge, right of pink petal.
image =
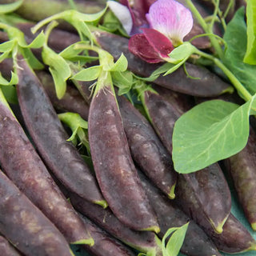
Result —
M185 0L185 1L186 1L186 5L190 8L191 12L194 14L194 17L198 20L198 23L202 26L202 29L205 30L206 34L214 34L210 26L207 25L204 18L202 18L202 15L198 12L198 9L194 6L193 2L191 0ZM218 54L218 57L222 58L223 51L222 51L222 47L218 43L218 40L214 36L209 36L209 38L212 46L214 46L214 49Z

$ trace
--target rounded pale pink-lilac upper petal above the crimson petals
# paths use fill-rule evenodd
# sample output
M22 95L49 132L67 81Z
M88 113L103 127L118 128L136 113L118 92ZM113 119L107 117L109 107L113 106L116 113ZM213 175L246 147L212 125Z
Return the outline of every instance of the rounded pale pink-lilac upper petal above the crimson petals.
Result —
M182 43L183 38L193 26L193 17L185 6L175 0L158 0L150 6L146 19L150 27L165 34L174 46Z

